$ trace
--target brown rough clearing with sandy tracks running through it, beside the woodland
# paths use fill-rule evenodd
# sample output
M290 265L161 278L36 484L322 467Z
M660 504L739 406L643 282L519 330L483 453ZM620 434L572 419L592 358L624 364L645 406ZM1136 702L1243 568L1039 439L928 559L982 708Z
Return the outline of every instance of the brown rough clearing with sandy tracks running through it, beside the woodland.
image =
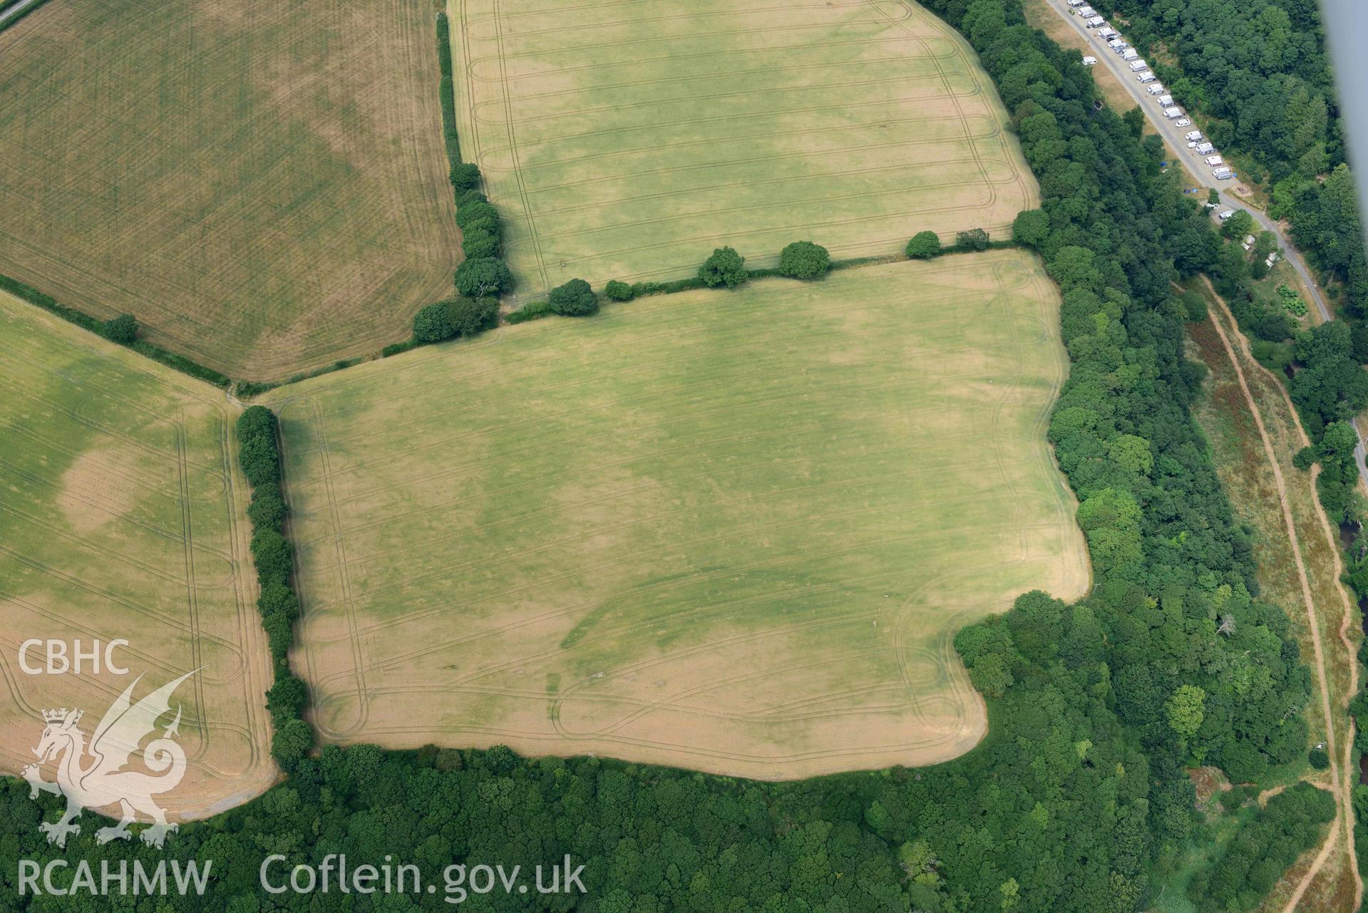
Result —
M1304 767L1304 779L1327 789L1338 786L1343 802L1349 783L1357 779L1357 767L1349 763L1352 733L1345 711L1345 701L1356 690L1353 682L1354 651L1345 648L1341 629L1346 612L1353 615L1356 610L1352 608L1339 582L1338 544L1320 515L1312 476L1291 465L1293 454L1306 441L1282 384L1249 357L1238 328L1220 308L1211 290L1205 286L1194 286L1194 288L1204 292L1211 306L1211 320L1194 325L1190 333L1197 357L1211 370L1209 396L1198 405L1197 420L1207 432L1216 470L1226 491L1230 492L1237 517L1254 530L1254 556L1259 566L1261 596L1287 610L1301 644L1302 657L1309 664L1316 663L1311 625L1312 622L1317 625L1326 668L1324 686L1331 707L1330 724L1334 726L1338 753L1334 757L1335 767L1330 771L1319 772L1309 765ZM1249 400L1239 387L1239 379L1230 362L1224 343L1216 333L1213 320L1222 321L1226 338L1235 346L1235 357L1245 383L1249 385L1254 407L1259 410L1264 432L1268 435L1268 441L1278 459L1302 567L1306 573L1306 592L1309 592L1312 605L1316 610L1313 616L1308 614L1306 595L1301 586L1272 466L1263 447ZM1349 627L1349 634L1357 637L1353 626ZM1311 744L1316 744L1327 739L1327 715L1320 698L1320 679L1315 670L1312 683L1313 700L1306 708L1306 719ZM1308 745L1309 748L1311 745ZM1337 771L1338 783L1332 776ZM1263 786L1270 785L1263 783ZM1335 821L1330 832L1330 838L1335 843L1302 898L1315 909L1349 909L1353 906L1353 858L1352 853L1347 851L1350 845L1346 839L1346 821L1349 821L1346 816ZM1264 909L1280 909L1305 879L1315 858L1323 850L1324 847L1317 847L1308 853L1279 882Z

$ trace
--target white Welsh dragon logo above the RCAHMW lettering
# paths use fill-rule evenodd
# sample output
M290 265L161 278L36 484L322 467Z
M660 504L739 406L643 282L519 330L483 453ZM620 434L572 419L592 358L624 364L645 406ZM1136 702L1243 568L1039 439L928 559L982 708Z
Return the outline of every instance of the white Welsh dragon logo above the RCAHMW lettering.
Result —
M64 847L67 836L81 832L81 826L74 823L81 817L81 812L112 805L119 806L119 823L96 831L98 843L131 838L129 826L137 820L140 812L152 819L152 827L141 835L142 842L149 846L160 847L167 834L176 830L176 824L167 821L166 812L152 797L174 790L185 776L185 749L174 741L181 726L179 707L175 720L161 738L152 739L142 749L144 765L159 776L123 768L138 750L142 738L156 731L157 719L171 709L171 694L192 675L194 672L186 672L134 703L133 689L142 681L141 675L135 678L105 711L90 737L89 746L85 733L77 728L82 711L68 711L64 707L42 711L45 727L38 746L33 749L38 756L38 764L25 767L23 779L29 782L30 798L38 798L38 793L44 791L64 795L67 800L67 810L59 821L44 821L38 826L48 835L49 843ZM38 774L42 764L52 761L57 763L56 782L44 780Z

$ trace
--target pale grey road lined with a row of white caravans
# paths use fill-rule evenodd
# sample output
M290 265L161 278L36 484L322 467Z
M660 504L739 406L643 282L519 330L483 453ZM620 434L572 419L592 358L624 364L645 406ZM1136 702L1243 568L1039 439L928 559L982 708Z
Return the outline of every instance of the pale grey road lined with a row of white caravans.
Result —
M1278 235L1278 245L1282 247L1283 258L1297 271L1301 276L1302 283L1311 291L1311 298L1316 303L1316 310L1320 312L1320 318L1323 321L1331 318L1330 308L1326 305L1324 295L1320 294L1320 287L1316 284L1315 277L1311 275L1311 269L1306 268L1306 262L1301 257L1301 251L1293 246L1291 239L1283 232L1282 227L1268 217L1260 209L1254 209L1249 202L1241 200L1239 197L1230 194L1224 190L1228 186L1227 182L1218 180L1215 175L1211 174L1211 168L1207 163L1201 160L1196 152L1187 148L1187 134L1189 130L1196 130L1196 124L1190 127L1175 127L1174 122L1163 116L1163 108L1159 107L1159 101L1153 96L1145 92L1144 83L1135 79L1135 74L1130 71L1130 63L1120 59L1120 55L1114 52L1107 46L1107 42L1097 37L1096 29L1089 29L1083 25L1082 16L1074 15L1064 0L1045 0L1051 10L1053 10L1060 18L1064 19L1078 34L1083 36L1088 41L1088 46L1092 48L1092 56L1097 57L1099 67L1107 67L1126 87L1126 92L1135 100L1140 109L1145 112L1145 116L1155 126L1155 130L1164 139L1170 149L1174 150L1174 156L1183 160L1187 164L1187 169L1197 176L1198 183L1204 187L1212 187L1220 194L1220 201L1227 206L1234 206L1245 209L1254 221L1275 235ZM1115 27L1115 26L1114 26ZM1118 27L1118 31L1120 29ZM1122 38L1126 34L1122 31ZM1186 156L1186 159L1183 159ZM1368 488L1368 454L1364 451L1364 436L1358 426L1358 420L1353 421L1354 433L1358 437L1358 446L1354 447L1354 461L1358 463L1358 478L1363 481L1364 487Z

